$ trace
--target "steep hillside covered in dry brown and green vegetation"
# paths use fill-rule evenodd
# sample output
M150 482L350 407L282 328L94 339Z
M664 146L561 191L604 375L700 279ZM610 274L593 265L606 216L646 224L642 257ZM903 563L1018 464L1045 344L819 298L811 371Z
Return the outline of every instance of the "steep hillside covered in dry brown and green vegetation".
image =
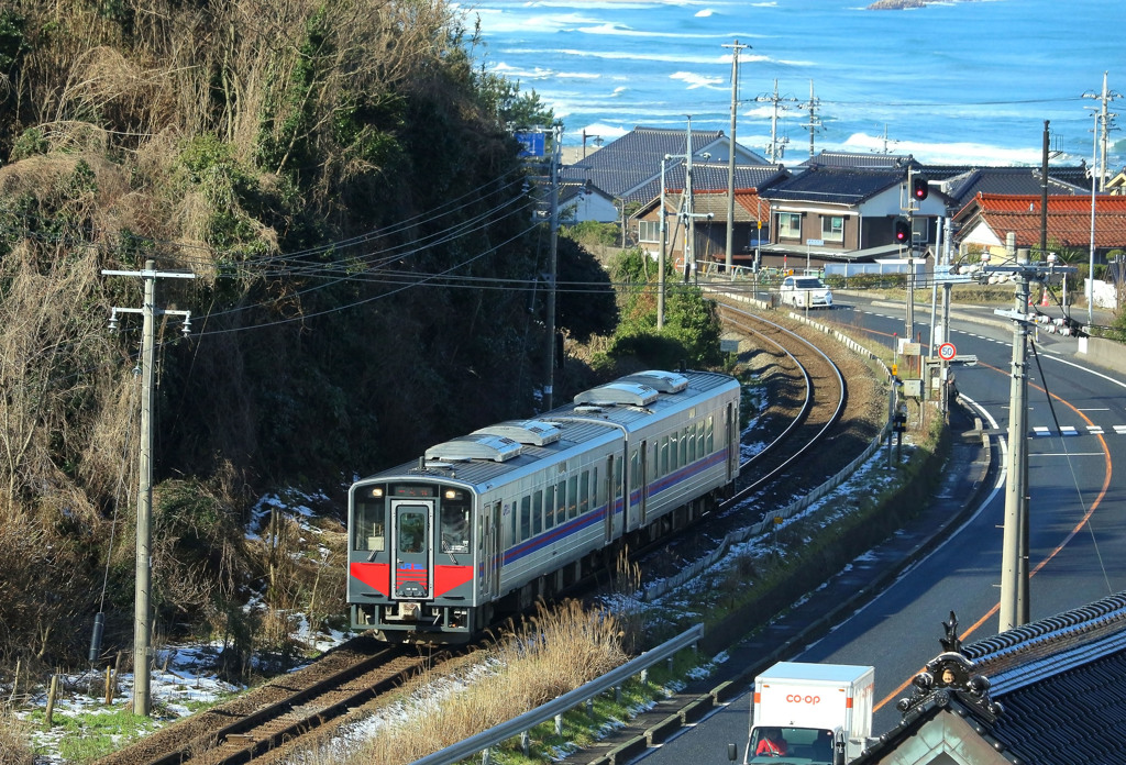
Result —
M195 274L155 280L191 334L158 315L152 597L159 633L202 624L236 668L263 633L248 583L342 610L342 565L298 593L283 524L244 539L258 496L339 510L357 472L534 408L548 237L509 124L552 116L463 21L441 0L0 8L0 676L84 660L98 611L102 658L132 642L141 317L106 326L143 279L104 270ZM587 282L561 327L613 328L605 272L560 259Z

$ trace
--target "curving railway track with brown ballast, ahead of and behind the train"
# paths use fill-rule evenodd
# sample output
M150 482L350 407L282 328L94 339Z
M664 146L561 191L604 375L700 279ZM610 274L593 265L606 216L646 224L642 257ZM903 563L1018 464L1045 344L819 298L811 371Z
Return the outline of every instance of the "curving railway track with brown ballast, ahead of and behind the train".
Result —
M774 502L788 502L795 492L815 486L823 475L839 469L832 460L819 467L825 456L819 447L837 438L842 420L848 420L847 376L829 354L780 323L738 307L722 305L722 309L729 331L756 346L752 356L760 377L770 386L770 405L753 433L767 446L743 464L749 479L736 495L714 518L705 518L703 526L665 540L669 549L680 548L689 538L707 544L708 539L723 536L722 526L745 522L749 513L761 516ZM652 558L674 561L689 555L681 548L674 556ZM164 728L98 765L280 762L305 740L323 738L332 727L363 714L357 712L360 708L378 706L382 696L447 658L448 654L420 657L411 649L383 646L361 636L300 672Z

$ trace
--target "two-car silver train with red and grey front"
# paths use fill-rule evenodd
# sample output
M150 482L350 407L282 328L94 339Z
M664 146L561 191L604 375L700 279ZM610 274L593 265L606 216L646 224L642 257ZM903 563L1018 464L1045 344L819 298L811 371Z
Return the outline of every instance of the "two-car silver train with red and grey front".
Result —
M690 524L733 488L739 408L732 377L647 371L356 482L351 628L468 640L613 566L623 544Z

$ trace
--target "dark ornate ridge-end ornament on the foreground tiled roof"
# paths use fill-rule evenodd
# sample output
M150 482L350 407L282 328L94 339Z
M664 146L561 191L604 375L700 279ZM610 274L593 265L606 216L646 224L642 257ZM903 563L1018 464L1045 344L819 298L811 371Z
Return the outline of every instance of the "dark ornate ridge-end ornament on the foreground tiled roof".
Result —
M946 632L946 637L939 639L942 652L912 678L911 696L900 699L895 708L905 718L926 703L946 706L951 698L956 698L992 722L1004 712L1004 708L990 699L989 677L974 673L976 665L962 652L958 618L953 611L950 619L942 622L942 628Z

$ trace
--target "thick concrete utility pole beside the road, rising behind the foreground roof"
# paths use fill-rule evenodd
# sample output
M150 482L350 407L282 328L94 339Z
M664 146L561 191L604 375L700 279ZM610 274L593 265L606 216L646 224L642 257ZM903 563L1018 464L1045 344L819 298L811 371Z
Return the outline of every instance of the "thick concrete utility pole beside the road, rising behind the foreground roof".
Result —
M1001 602L999 631L1028 623L1028 285L1047 281L1053 272L1074 271L1053 262L1029 262L1027 250L1017 250L1016 234L1006 237L1008 258L983 272L1008 272L1017 277L1012 310L994 313L1012 320L1012 372L1009 388L1009 454L1004 492L1004 532L1001 542Z

